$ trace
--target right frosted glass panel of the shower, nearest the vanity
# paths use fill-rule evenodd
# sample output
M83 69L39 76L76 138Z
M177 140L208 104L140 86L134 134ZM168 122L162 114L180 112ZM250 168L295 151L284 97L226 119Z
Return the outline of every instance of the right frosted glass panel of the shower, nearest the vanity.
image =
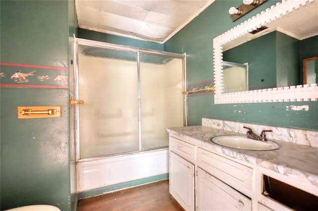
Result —
M140 54L142 150L168 145L168 127L183 126L183 60Z

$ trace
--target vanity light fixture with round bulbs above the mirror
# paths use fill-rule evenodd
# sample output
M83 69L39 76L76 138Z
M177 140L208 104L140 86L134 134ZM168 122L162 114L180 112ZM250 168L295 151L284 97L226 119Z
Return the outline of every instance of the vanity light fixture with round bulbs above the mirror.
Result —
M232 6L229 9L229 13L232 15L232 21L234 22L238 20L240 17L247 14L266 1L267 0L243 0L243 3L239 7Z

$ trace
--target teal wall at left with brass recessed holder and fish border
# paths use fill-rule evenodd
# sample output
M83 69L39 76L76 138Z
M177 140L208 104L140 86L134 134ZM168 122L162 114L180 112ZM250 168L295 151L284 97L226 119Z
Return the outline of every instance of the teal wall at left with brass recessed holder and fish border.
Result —
M0 21L0 71L6 73L0 81L0 209L48 204L75 210L68 85L31 84L41 73L68 75L68 37L77 27L74 1L1 0ZM19 83L10 80L10 71L17 70L36 72L32 80ZM13 86L3 86L4 82ZM62 106L62 117L17 119L17 106Z

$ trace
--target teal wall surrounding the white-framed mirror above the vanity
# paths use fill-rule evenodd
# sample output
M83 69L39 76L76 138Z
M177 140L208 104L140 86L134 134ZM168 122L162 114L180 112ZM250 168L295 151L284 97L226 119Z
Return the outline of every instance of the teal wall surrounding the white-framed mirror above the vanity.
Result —
M213 80L213 38L275 4L269 0L232 22L228 10L238 0L216 0L164 44L164 51L187 53L187 84ZM308 111L287 106L308 105ZM213 95L188 96L188 125L200 125L202 117L230 121L318 130L318 102L214 104Z

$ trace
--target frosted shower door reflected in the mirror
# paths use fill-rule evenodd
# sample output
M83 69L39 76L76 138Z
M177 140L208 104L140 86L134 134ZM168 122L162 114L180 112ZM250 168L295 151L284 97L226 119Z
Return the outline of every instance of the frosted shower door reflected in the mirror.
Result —
M243 92L248 90L248 64L223 61L223 92Z

